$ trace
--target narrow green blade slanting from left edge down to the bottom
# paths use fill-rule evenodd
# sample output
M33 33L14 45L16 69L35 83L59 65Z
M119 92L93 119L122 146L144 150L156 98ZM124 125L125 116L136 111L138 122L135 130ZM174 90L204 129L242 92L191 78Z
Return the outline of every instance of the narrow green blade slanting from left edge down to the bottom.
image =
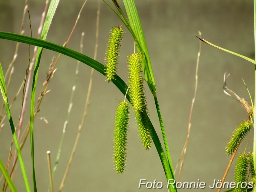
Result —
M5 106L6 106L6 113L8 115L10 126L11 126L11 129L12 129L13 140L14 140L14 143L15 143L15 146L16 146L16 149L17 149L18 158L20 160L20 168L21 168L21 172L22 172L22 175L23 175L23 178L24 178L26 190L27 190L27 192L30 192L29 180L28 180L28 177L26 175L25 165L24 165L23 158L22 158L22 155L21 155L21 152L20 152L20 146L19 146L19 143L18 143L17 135L16 135L16 132L15 132L15 127L14 127L14 124L13 124L13 121L12 121L11 111L10 111L9 104L8 104L8 98L7 98L7 94L6 94L6 85L5 85L5 81L4 81L4 76L3 76L3 70L2 70L1 63L0 63L0 92L3 96L3 101L4 101Z

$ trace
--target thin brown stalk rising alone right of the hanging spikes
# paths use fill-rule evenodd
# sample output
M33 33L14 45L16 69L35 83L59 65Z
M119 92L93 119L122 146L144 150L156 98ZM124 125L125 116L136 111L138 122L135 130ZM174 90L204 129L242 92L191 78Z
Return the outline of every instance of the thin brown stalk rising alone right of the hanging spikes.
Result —
M201 32L198 31L199 33L199 37L201 37ZM191 117L192 117L192 111L193 111L193 107L194 107L194 102L195 102L195 97L196 97L196 93L197 93L197 86L198 86L198 65L199 65L199 58L200 58L200 53L201 53L201 41L199 41L199 52L198 52L198 58L197 58L197 62L196 62L196 70L195 70L195 92L194 92L194 97L192 99L192 104L191 104L191 108L190 108L190 114L189 114L189 125L188 125L188 134L187 134L187 139L186 139L186 144L185 144L185 148L184 148L184 154L183 154L183 160L180 163L180 171L179 171L179 175L177 178L177 182L180 179L180 174L183 168L183 164L185 161L185 157L186 157L186 149L188 146L188 142L189 142L189 134L190 134L190 127L191 127ZM179 162L178 162L179 163Z

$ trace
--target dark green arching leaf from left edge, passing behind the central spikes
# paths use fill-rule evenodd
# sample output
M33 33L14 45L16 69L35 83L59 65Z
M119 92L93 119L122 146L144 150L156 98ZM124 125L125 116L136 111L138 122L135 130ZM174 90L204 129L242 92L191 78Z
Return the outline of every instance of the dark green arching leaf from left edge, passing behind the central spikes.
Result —
M72 58L74 58L78 61L81 61L82 63L87 64L90 67L93 67L95 70L99 71L99 73L102 73L102 75L105 75L105 66L103 64L99 63L96 60L93 60L92 58L90 58L86 55L83 55L79 52L76 52L72 49L62 47L60 45L53 44L53 43L50 43L50 42L47 42L47 41L43 41L43 40L40 40L40 39L37 39L37 38L32 38L32 37L13 34L13 33L8 33L8 32L0 32L0 38L1 39L12 40L12 41L18 41L18 42L25 43L25 44L31 44L31 45L35 45L35 46L38 46L38 47L43 47L45 49L50 49L50 50L55 51L55 52L59 52L61 54L72 57ZM128 88L128 86L125 84L125 82L119 76L115 76L115 80L113 80L112 82L125 95L126 90ZM126 95L126 98L130 101L130 97L129 97L128 94ZM151 128L152 128L152 140L154 141L154 145L155 145L155 147L157 149L157 152L159 154L161 163L163 165L164 172L166 174L166 178L167 179L174 179L173 172L171 172L171 170L169 168L169 164L168 164L168 161L166 159L166 155L163 151L163 147L160 143L160 140L157 136L156 131L154 130L154 127L153 127L152 123L151 123Z

